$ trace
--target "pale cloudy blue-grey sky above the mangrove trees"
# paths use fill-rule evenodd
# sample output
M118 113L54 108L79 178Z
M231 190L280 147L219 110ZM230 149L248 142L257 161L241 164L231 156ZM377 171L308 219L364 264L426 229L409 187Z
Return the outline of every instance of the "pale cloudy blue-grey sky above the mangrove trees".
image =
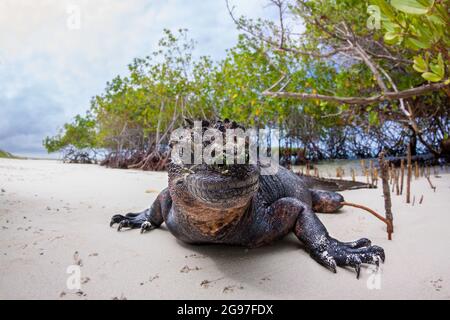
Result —
M230 3L238 15L275 17L266 0ZM238 35L225 0L2 0L0 149L44 156L43 138L154 51L164 28L189 29L197 53L214 59Z

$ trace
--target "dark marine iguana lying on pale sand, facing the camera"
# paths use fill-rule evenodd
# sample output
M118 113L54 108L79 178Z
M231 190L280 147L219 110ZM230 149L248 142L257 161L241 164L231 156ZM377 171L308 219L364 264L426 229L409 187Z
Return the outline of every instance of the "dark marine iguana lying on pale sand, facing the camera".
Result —
M222 128L223 123L215 126ZM293 232L318 263L335 273L337 266L353 267L357 277L362 264L385 260L384 250L368 239L341 242L328 234L315 212L335 213L344 201L329 191L342 189L330 180L301 177L283 167L274 175L261 175L260 167L250 164L223 170L219 165L170 163L168 176L168 188L149 209L114 215L110 226L117 223L118 231L140 228L144 233L166 223L186 243L250 248Z

